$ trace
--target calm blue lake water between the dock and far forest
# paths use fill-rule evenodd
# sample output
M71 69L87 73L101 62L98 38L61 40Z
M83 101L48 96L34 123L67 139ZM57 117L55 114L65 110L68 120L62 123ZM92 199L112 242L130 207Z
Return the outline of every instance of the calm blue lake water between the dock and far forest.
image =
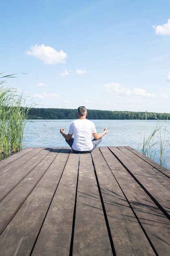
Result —
M60 134L60 128L68 133L72 120L32 120L28 121L24 130L24 147L65 147L68 144ZM147 139L155 130L156 126L164 127L170 131L170 122L157 120L92 120L98 133L104 128L109 132L102 138L100 146L131 146L140 151L144 137ZM159 136L159 134L157 135ZM159 138L155 136L158 141ZM163 139L164 135L161 135ZM170 134L166 133L166 140L170 140ZM165 140L163 139L163 140ZM169 141L170 142L170 141ZM158 145L157 145L158 146ZM155 161L159 163L158 154ZM170 146L165 149L163 166L170 169Z

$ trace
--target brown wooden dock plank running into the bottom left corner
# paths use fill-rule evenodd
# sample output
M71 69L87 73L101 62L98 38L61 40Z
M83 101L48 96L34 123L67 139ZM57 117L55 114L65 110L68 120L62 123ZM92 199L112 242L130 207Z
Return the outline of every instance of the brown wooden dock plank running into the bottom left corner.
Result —
M63 152L63 153L62 153ZM70 150L61 150L0 236L0 256L30 255Z

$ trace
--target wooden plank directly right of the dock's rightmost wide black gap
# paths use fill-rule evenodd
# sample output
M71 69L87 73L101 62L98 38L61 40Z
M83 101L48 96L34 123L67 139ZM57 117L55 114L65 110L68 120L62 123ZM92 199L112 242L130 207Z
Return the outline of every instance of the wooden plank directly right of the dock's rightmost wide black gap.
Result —
M170 220L170 190L153 178L152 174L147 173L145 168L138 166L133 159L122 153L121 150L116 147L109 147L109 149L126 166L129 173L136 178L140 186L143 186L148 195Z

